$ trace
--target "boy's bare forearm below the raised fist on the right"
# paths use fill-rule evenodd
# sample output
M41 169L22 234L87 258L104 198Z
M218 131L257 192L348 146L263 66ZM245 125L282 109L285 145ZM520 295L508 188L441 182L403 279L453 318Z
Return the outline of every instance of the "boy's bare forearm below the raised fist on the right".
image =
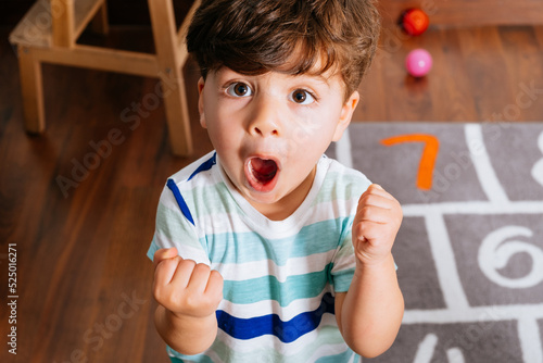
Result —
M348 345L364 356L376 356L394 341L404 300L392 255L375 265L356 267L341 306L340 329Z

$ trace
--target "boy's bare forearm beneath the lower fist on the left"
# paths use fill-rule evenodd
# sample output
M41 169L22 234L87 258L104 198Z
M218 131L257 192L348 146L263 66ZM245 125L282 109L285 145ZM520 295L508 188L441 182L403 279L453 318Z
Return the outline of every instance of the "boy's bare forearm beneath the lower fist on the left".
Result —
M215 314L206 317L176 316L159 305L154 323L164 341L175 351L187 355L205 351L217 335Z

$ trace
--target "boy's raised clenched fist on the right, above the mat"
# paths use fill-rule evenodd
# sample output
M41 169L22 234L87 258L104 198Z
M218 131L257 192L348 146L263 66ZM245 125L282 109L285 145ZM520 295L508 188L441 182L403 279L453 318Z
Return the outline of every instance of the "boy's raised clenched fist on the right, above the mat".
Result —
M358 200L353 222L353 246L357 263L387 259L402 224L402 206L381 186L372 184Z

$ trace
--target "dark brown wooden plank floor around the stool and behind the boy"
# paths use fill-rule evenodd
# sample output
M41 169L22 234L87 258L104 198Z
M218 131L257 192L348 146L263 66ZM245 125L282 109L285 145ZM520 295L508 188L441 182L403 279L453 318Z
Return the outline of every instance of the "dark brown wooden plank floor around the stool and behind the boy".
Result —
M148 30L114 29L86 41L152 51L151 39ZM419 80L403 70L416 47L434 59ZM541 121L542 70L541 26L432 29L413 39L386 30L355 120ZM185 71L195 90L194 64ZM180 159L169 152L155 79L46 65L48 128L34 137L23 129L17 72L2 41L0 361L167 362L152 323L146 252L166 178L211 150L195 92L197 151ZM5 345L8 243L17 249L16 360Z

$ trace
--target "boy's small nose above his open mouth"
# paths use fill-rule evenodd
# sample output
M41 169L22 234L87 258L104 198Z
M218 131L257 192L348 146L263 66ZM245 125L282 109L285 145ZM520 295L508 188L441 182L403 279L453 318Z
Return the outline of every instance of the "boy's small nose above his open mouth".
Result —
M249 133L254 136L280 135L280 104L270 97L258 97L253 101Z

